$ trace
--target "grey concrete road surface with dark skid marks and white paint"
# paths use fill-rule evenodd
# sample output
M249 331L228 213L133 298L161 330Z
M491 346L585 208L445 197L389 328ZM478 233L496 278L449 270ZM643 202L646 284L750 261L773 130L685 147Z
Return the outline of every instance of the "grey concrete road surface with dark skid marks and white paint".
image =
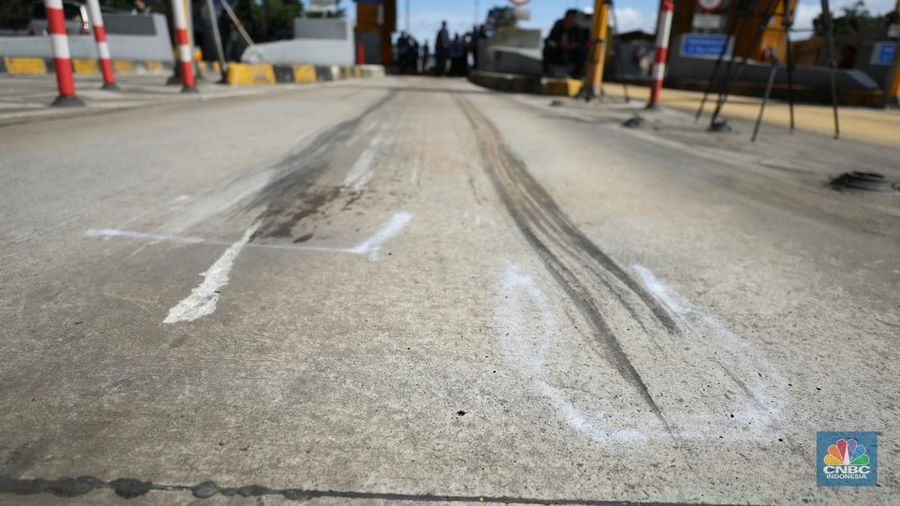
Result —
M0 127L0 503L900 501L900 151L385 78ZM816 485L876 431L877 487ZM64 500L66 496L72 496Z

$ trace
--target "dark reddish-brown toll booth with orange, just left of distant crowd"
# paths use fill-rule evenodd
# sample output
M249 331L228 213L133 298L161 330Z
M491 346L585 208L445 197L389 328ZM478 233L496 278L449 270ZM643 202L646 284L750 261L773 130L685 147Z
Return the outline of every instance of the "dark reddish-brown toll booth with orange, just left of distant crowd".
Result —
M364 61L390 65L394 61L392 34L397 31L397 0L356 1L356 47Z

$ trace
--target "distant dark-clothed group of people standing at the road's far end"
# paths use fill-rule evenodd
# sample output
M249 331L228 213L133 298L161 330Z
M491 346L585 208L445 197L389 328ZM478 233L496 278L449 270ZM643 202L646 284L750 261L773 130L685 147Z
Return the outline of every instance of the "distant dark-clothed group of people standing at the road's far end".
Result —
M404 74L466 76L471 66L478 68L478 48L484 38L484 28L477 26L464 35L455 33L451 37L447 22L443 21L435 35L432 54L427 41L420 45L412 35L401 32L397 39L397 70Z

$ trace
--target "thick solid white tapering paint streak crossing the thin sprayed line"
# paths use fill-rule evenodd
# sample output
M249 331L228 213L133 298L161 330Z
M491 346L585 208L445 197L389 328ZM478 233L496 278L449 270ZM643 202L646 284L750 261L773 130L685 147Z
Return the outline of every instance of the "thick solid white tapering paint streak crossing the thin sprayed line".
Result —
M203 282L191 294L169 310L163 323L192 322L216 311L221 289L228 284L228 276L234 267L234 260L259 228L259 223L244 232L241 239L232 244L212 266L202 274Z

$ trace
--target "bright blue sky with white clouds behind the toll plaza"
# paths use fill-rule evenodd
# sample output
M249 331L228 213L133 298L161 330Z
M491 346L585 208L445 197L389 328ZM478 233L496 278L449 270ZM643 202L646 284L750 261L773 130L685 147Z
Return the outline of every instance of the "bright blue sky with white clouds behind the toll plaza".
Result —
M400 29L405 28L405 2L397 0ZM509 5L505 0L408 0L410 6L410 31L420 41L433 39L441 20L453 32L464 33L470 30L475 20L476 4L478 19L483 22L487 11L493 6ZM890 12L896 0L866 0L866 7L876 14ZM343 3L350 4L350 0ZM855 0L831 0L832 11L840 13L840 8L852 5ZM656 29L656 15L659 0L616 0L614 2L619 31L644 30L653 32ZM562 17L569 8L593 8L593 0L531 0L526 9L531 11L531 20L522 23L525 27L540 28L544 34L553 26L553 22ZM353 9L349 9L353 11ZM812 20L821 12L819 0L800 0L797 9L795 26L799 29L812 28ZM798 33L794 39L807 38L807 34Z

